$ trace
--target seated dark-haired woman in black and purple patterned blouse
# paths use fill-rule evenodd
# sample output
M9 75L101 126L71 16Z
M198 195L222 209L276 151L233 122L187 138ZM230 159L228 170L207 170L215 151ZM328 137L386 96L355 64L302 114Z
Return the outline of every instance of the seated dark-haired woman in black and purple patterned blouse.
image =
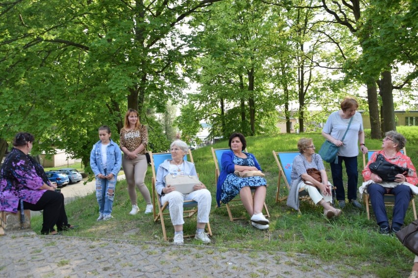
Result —
M55 192L42 166L28 153L32 149L33 135L19 132L12 150L4 160L0 170L0 210L17 212L23 208L43 210L42 234L57 234L58 231L73 229L68 224L64 209L64 196Z

